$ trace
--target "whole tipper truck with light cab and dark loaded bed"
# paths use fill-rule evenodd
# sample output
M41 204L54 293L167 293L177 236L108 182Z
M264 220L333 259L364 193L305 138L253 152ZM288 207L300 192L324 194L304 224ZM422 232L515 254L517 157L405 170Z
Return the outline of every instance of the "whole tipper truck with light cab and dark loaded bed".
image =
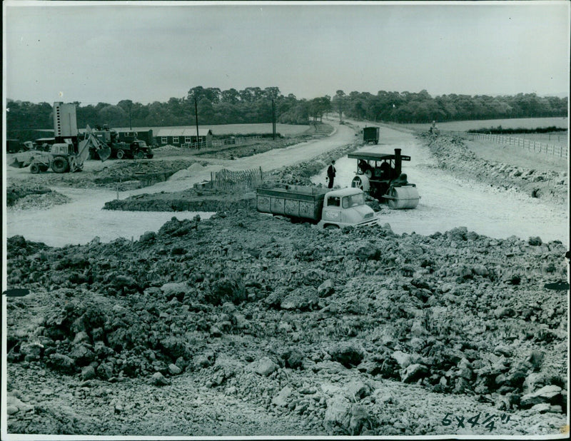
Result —
M260 213L286 216L319 228L379 225L373 208L365 205L365 193L358 188L258 188L256 208Z

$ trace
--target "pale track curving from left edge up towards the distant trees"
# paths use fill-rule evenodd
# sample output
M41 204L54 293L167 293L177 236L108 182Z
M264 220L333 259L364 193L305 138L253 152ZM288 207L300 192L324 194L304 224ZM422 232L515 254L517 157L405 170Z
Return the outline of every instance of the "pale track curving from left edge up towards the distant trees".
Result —
M288 148L280 148L258 155L240 158L234 161L213 160L213 164L204 167L198 173L186 178L157 183L154 186L133 191L119 192L119 198L127 198L141 193L158 193L161 191L181 191L191 188L194 183L209 180L211 172L222 168L229 170L246 170L261 167L263 171L290 166L308 161L325 151L353 141L355 134L347 126L338 126L327 138L295 144ZM200 158L204 161L204 158ZM100 163L96 163L101 166ZM24 171L22 171L24 170ZM29 173L27 169L11 170L12 173ZM141 213L129 211L103 211L104 203L117 197L115 191L97 188L64 188L54 190L71 198L71 202L54 206L49 210L10 211L6 219L7 236L23 235L28 240L36 240L50 246L68 244L84 244L96 236L103 242L116 238L135 238L149 230L158 230L167 220L176 216L179 220L191 219L196 212ZM208 218L207 213L198 213L201 218ZM38 225L41 225L39 228Z

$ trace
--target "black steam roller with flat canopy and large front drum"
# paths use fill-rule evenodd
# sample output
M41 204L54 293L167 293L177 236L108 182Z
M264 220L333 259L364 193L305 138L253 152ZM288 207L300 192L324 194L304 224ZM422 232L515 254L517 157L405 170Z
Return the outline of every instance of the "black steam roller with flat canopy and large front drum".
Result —
M401 155L400 151L400 148L395 148L394 155L349 153L348 158L357 159L357 173L351 181L351 187L368 193L393 210L418 206L420 196L416 185L408 182L406 173L401 173L402 162L410 161L410 156Z

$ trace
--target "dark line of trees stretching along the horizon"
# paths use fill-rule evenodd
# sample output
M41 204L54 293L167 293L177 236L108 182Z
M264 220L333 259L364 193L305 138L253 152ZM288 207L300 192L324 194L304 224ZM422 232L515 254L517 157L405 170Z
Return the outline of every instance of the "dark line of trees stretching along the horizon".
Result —
M142 104L121 100L117 104L82 106L75 102L79 128L86 125L110 127L193 126L198 110L200 125L271 123L272 100L278 123L308 124L320 121L326 113L340 119L354 118L395 123L462 121L493 118L567 116L568 98L541 97L535 93L515 96L457 95L435 96L418 93L378 91L376 95L336 91L333 97L297 98L284 96L278 87L246 87L222 91L220 88L191 88L182 98ZM9 132L52 128L51 103L7 100L6 126Z

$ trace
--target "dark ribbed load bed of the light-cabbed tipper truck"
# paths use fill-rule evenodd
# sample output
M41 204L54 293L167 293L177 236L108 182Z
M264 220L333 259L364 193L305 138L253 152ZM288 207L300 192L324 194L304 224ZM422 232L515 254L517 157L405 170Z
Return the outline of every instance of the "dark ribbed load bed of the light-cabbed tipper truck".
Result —
M325 188L258 188L256 207L261 213L320 220Z

